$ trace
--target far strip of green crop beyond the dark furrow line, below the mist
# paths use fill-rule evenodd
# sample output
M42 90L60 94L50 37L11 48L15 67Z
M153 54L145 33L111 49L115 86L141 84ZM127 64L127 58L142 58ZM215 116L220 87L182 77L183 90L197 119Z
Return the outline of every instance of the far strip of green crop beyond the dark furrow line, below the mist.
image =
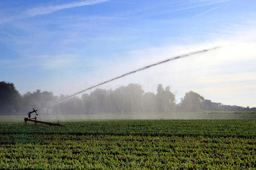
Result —
M1 122L0 133L255 138L255 122L255 120L86 121L63 122L64 127L23 126L23 122Z

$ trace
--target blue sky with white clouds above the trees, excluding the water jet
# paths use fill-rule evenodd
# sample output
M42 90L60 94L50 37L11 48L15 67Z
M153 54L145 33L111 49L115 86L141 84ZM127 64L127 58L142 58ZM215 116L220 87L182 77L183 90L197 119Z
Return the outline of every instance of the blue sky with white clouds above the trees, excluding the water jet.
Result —
M256 107L255 0L0 1L0 81L20 94L71 95L180 54L221 49L151 67L101 86L170 86L177 103L195 91Z

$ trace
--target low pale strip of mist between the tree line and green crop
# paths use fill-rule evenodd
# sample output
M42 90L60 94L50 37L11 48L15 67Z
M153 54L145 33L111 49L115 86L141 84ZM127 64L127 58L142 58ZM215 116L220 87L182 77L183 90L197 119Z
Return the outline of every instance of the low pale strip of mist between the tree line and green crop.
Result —
M24 116L0 116L0 121L23 122ZM67 121L112 121L112 120L255 120L256 112L201 112L201 113L104 113L104 114L40 114L38 120L51 122Z

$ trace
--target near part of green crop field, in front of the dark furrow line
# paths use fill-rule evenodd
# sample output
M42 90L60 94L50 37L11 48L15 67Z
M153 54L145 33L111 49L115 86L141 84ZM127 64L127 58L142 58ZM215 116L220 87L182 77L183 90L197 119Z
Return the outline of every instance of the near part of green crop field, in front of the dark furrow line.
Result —
M23 137L13 135L13 138ZM29 135L28 138L38 141L1 146L0 169L255 168L254 139L136 135Z

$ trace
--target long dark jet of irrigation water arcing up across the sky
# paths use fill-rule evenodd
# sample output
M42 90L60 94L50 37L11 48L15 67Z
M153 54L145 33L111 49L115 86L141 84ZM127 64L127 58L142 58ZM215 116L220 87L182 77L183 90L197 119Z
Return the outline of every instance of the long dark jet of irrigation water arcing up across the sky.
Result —
M126 76L126 75L133 74L133 73L136 73L136 72L138 72L138 71L146 70L146 69L148 69L148 68L150 68L150 67L153 67L153 66L156 66L156 65L160 65L160 64L165 63L165 62L174 61L174 60L176 60L176 59L184 58L184 57L188 57L188 56L192 56L192 55L194 55L194 54L205 53L205 52L208 52L209 50L215 50L215 49L218 49L218 48L221 48L221 47L222 47L222 46L215 46L214 48L209 48L209 49L204 49L204 50L200 50L200 51L197 51L197 52L191 52L191 53L188 53L188 54L183 54L183 55L181 55L181 56L172 57L172 58L166 59L166 60L164 60L164 61L156 62L156 63L153 63L153 64L151 64L151 65L141 67L140 69L137 69L137 70L134 70L134 71L130 71L130 72L128 72L128 73L119 75L119 76L117 76L117 77L115 77L115 78L112 78L112 79L110 79L110 80L106 80L105 82L96 84L96 85L94 85L94 86L92 86L92 87L89 87L89 88L86 88L85 90L76 92L76 93L73 94L73 95L64 97L63 99L57 100L57 101L55 101L55 102L53 102L53 103L51 103L51 104L49 104L49 105L53 105L53 104L58 103L58 102L60 102L60 101L62 101L62 100L68 99L69 97L72 97L72 96L81 94L82 92L88 91L88 90L90 90L90 89L92 89L92 88L94 88L94 87L101 86L102 84L106 84L106 83L108 83L108 82L112 82L113 80L122 78L122 77L124 77L124 76Z

